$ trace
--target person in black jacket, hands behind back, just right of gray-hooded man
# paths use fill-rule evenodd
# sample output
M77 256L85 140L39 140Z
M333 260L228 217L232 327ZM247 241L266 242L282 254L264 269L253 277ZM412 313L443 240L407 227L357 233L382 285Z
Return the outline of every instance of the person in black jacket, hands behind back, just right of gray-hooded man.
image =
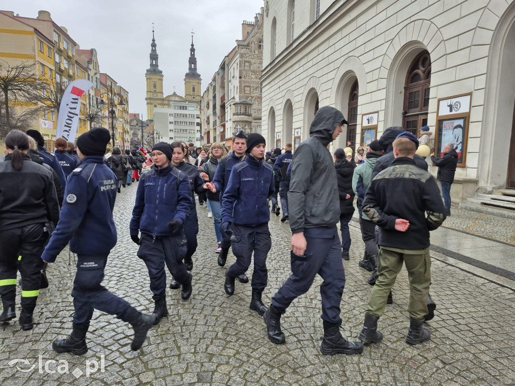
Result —
M352 154L351 154L352 155ZM352 190L352 176L356 163L352 159L346 160L344 149L336 149L334 152L334 167L338 179L338 195L340 197L340 231L341 231L341 258L349 260L351 249L351 234L349 221L354 213L354 191Z

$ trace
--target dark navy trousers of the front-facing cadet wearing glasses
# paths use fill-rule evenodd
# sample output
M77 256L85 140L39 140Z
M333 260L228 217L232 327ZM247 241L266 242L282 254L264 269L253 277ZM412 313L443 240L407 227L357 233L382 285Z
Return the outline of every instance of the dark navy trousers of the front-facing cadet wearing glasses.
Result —
M154 295L161 295L166 290L165 264L179 284L187 282L188 275L183 263L186 252L187 240L183 234L156 237L141 234L138 257L145 261L150 276L150 291Z

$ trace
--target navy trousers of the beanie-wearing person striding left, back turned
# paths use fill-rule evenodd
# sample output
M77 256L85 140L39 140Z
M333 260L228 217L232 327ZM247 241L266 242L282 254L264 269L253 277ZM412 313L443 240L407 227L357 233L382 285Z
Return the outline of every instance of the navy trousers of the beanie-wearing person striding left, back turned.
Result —
M77 255L77 273L72 290L75 308L73 323L89 326L95 309L124 319L127 311L132 308L121 297L101 285L108 256Z

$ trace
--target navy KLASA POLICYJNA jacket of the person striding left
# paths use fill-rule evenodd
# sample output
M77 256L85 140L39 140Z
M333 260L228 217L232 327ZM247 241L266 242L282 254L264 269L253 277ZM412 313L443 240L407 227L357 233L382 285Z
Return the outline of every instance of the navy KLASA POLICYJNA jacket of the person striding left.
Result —
M61 216L41 258L56 260L68 241L78 255L108 254L116 244L117 180L104 157L88 156L68 178Z

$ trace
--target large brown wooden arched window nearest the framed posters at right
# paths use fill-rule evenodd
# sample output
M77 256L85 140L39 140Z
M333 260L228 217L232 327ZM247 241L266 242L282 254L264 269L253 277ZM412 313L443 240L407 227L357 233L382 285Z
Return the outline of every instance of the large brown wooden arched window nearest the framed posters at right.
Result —
M427 125L431 84L431 57L426 50L411 62L404 85L404 130L418 137L418 131Z

